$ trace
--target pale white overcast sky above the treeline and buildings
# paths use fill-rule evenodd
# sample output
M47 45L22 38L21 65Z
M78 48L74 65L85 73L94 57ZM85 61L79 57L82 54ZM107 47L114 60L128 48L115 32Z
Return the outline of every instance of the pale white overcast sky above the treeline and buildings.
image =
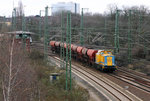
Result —
M13 1L14 7L17 7L20 0L0 0L0 16L11 16ZM123 5L127 7L145 5L150 8L150 0L22 0L22 3L25 15L37 15L46 6L51 7L51 4L57 2L71 1L79 3L80 8L89 8L89 12L93 13L104 13L110 4L116 4L119 8Z

